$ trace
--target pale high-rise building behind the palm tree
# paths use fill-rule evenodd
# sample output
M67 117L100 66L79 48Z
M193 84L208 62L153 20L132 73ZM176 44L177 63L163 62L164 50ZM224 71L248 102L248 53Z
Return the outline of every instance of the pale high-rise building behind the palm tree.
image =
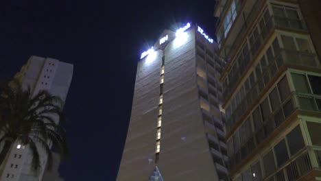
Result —
M23 86L29 86L34 94L39 90L48 90L52 95L61 97L65 101L71 79L73 65L60 62L53 58L40 58L32 56L15 77ZM58 121L58 119L57 119ZM47 165L47 155L44 150L40 152L41 169L35 173L32 171L32 156L27 145L14 143L14 147L8 153L5 162L1 165L2 181L39 181L43 178L43 172Z

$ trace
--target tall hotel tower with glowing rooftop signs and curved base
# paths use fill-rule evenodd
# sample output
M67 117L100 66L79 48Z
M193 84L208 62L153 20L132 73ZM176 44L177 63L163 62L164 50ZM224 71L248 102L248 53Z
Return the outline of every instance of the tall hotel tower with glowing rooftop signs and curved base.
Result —
M219 76L224 62L198 25L165 30L138 62L117 180L219 180L227 175Z

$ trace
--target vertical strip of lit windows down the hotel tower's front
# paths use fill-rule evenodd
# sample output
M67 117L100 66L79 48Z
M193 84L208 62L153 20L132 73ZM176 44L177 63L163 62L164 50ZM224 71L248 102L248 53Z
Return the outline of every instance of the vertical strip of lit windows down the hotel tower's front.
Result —
M159 101L158 101L158 119L157 119L157 132L156 132L156 154L160 152L160 132L162 126L162 114L163 114L163 84L164 84L164 73L165 73L165 57L162 58L162 64L160 67L160 90L159 90ZM158 158L156 158L156 161Z

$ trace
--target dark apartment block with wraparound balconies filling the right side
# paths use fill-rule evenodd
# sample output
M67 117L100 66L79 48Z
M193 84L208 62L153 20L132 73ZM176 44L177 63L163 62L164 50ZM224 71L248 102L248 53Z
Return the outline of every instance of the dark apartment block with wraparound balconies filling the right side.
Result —
M320 180L321 33L313 15L320 6L313 4L217 1L231 180Z

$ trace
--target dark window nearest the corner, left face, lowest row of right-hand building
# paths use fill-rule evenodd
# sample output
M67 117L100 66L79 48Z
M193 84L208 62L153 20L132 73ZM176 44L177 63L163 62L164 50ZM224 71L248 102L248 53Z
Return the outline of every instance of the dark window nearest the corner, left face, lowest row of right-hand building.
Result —
M287 144L289 145L291 156L305 147L305 141L303 141L300 125L297 125L296 128L287 134Z

